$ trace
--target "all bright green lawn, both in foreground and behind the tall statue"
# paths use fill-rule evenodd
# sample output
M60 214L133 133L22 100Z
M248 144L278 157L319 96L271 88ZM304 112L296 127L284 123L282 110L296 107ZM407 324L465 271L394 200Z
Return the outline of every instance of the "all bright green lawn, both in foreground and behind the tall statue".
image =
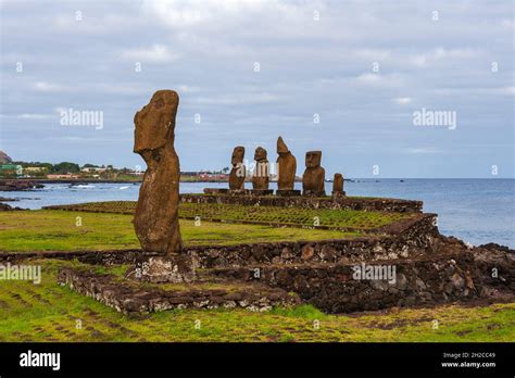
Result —
M79 218L77 218L79 217ZM131 215L70 211L0 213L0 251L138 248ZM359 232L180 220L184 242L237 244L353 238ZM25 260L42 280L0 281L0 341L513 341L515 303L326 315L311 305L248 310L165 311L130 318L56 284L60 266L75 261ZM88 266L122 275L126 266ZM205 282L206 288L216 285ZM184 290L180 285L167 289ZM230 289L224 287L225 289ZM238 289L241 289L239 287Z

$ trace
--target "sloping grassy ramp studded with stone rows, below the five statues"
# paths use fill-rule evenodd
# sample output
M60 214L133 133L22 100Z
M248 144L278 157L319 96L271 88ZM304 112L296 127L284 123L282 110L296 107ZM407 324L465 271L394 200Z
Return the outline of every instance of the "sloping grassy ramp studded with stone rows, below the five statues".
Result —
M89 202L56 206L84 212L108 212L133 214L134 201ZM416 216L407 213L364 212L355 210L300 209L278 206L243 206L219 203L180 203L179 217L205 220L230 220L236 223L261 223L289 225L293 227L331 227L340 229L369 230Z

